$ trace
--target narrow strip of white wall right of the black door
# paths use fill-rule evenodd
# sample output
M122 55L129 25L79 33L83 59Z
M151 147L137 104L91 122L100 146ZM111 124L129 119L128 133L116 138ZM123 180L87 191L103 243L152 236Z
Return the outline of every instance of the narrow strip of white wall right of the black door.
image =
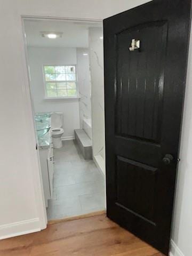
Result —
M175 196L172 239L174 256L192 255L192 30L189 48L186 97Z

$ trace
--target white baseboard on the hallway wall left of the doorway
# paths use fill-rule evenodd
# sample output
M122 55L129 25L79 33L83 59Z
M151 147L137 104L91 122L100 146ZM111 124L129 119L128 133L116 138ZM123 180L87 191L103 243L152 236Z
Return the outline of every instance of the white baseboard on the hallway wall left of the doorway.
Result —
M0 239L34 233L40 230L39 218L13 222L0 226Z

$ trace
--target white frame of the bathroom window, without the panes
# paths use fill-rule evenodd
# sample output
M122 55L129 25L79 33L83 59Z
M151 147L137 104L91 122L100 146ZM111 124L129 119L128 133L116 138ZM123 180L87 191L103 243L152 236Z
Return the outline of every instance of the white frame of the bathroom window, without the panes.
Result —
M45 80L45 66L74 66L75 67L75 77L76 77L76 91L77 91L77 95L76 96L63 96L63 97L47 97L47 89L46 89L46 83L49 81ZM42 66L42 71L43 71L43 83L44 83L44 94L45 100L65 100L65 99L79 99L79 91L78 91L78 79L77 79L77 65L76 64L43 64ZM74 82L74 81L58 81L58 82Z

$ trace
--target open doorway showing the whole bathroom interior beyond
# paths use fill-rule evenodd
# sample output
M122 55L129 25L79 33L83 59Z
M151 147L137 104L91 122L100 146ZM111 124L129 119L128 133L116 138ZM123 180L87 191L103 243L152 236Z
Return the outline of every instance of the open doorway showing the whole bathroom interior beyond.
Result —
M23 23L47 219L104 211L102 23Z

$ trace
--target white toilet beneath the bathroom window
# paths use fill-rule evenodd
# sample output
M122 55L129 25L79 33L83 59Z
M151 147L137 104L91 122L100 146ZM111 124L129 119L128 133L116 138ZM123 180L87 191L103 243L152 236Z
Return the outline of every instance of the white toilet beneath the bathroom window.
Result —
M53 138L53 148L61 148L61 137L64 132L63 125L63 113L55 112L51 114L51 135Z

